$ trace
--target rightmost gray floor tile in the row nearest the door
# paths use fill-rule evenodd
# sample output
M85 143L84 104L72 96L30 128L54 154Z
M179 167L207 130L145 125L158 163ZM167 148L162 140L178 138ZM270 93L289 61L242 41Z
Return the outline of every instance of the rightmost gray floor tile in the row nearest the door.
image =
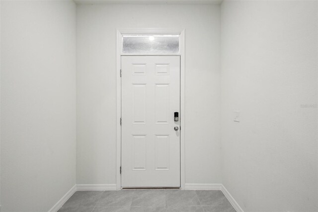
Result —
M226 205L228 199L221 191L195 191L202 206Z

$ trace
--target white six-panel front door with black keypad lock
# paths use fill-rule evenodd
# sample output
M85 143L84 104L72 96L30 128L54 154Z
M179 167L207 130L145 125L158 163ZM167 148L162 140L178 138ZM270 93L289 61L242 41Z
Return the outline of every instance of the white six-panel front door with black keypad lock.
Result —
M122 56L121 69L121 185L180 187L180 57Z

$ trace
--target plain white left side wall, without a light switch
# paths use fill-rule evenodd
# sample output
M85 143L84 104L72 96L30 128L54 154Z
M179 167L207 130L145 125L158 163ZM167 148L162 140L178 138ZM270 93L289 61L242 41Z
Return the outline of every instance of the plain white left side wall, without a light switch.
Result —
M76 5L1 1L1 210L44 212L76 184Z

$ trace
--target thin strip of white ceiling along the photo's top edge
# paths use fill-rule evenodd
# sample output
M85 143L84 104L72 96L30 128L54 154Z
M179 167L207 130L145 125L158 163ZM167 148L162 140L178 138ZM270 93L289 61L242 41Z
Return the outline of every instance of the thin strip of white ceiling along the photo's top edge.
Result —
M222 0L74 0L77 4L220 4Z

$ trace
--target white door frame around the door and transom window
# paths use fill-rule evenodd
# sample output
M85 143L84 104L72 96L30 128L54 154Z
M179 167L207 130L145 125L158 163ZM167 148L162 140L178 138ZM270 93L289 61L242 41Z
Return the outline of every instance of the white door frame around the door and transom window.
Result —
M122 34L180 34L177 54L122 54ZM179 55L180 56L180 186L185 189L185 29L117 29L116 36L116 189L121 189L121 56L122 55Z

